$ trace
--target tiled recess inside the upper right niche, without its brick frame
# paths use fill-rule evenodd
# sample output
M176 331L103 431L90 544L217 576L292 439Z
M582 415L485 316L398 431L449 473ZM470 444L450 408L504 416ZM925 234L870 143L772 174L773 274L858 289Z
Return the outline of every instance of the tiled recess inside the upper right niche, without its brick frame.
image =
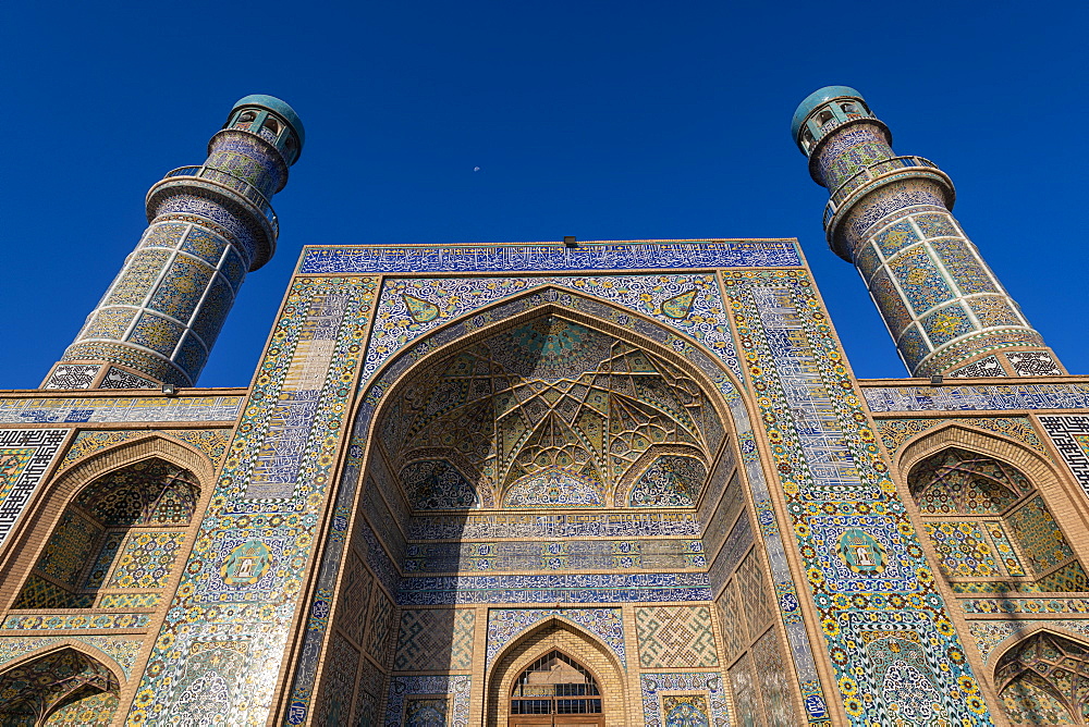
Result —
M1043 495L1013 465L949 447L913 467L907 483L954 592L1089 591Z

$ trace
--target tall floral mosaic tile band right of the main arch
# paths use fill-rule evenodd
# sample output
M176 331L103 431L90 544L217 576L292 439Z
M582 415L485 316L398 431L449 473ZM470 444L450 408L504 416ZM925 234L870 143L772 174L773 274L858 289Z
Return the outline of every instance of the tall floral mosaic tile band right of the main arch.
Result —
M861 642L872 629L896 628L930 644L932 663L919 673L934 693L958 694L945 704L950 718L988 724L979 687L811 282L793 271L730 272L724 279L739 353L752 385L763 392L759 404L773 463L848 719L860 726L911 706L901 698L908 692L889 691L882 681L883 656L867 657L861 671L843 666L859 666L847 656L848 643ZM895 683L907 689L916 682ZM811 712L809 697L804 700Z

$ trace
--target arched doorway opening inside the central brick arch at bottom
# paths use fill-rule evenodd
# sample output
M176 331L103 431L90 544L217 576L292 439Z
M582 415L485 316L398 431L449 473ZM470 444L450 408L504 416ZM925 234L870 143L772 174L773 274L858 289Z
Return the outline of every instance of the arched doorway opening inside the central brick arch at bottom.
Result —
M529 665L511 689L509 727L604 727L601 690L582 664L552 651Z

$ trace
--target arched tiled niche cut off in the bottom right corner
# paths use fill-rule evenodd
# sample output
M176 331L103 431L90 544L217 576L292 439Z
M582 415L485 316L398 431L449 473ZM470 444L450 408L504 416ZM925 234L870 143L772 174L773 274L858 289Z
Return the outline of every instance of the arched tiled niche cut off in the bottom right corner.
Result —
M1041 632L1007 651L994 688L1015 725L1089 723L1089 646Z

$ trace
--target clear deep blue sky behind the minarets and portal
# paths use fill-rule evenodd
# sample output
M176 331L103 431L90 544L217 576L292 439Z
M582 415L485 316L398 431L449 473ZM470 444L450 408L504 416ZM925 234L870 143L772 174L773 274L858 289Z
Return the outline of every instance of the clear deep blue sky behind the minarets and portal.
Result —
M905 375L790 138L862 91L1029 320L1089 372L1085 3L10 3L0 23L0 387L37 386L163 172L233 102L306 148L200 380L246 385L303 245L798 237L860 377ZM474 168L479 167L479 171Z

